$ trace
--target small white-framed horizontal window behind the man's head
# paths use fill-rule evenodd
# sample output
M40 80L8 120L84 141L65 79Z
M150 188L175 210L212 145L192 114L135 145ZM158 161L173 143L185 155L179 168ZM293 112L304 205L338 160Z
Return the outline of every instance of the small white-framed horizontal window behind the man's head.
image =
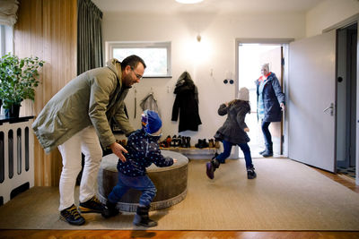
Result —
M106 59L122 61L128 55L144 59L144 77L171 77L171 42L106 42Z

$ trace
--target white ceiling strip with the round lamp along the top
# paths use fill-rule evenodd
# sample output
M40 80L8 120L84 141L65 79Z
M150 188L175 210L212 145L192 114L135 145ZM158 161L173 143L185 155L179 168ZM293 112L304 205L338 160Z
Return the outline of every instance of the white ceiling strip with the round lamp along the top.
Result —
M92 0L102 12L116 13L305 13L325 0L204 0L179 4L175 0Z

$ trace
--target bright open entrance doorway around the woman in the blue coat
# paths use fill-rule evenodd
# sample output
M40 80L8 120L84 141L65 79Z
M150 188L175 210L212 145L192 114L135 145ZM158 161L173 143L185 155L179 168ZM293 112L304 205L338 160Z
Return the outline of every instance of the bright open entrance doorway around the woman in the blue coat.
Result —
M253 158L262 158L259 151L265 149L261 124L257 117L257 87L255 81L260 76L263 64L269 64L269 71L276 73L283 90L284 73L284 47L283 44L266 43L239 43L238 44L238 84L237 91L241 87L250 90L250 115L246 116L246 124L250 128L250 151ZM283 90L285 91L285 90ZM274 157L283 154L283 120L269 125L272 135ZM239 157L242 158L239 150Z

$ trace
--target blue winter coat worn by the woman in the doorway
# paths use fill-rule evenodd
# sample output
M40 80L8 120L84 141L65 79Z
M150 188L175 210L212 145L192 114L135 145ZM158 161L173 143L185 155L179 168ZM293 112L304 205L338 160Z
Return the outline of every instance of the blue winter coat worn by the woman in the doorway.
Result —
M259 100L260 81L256 81L257 85L257 102ZM285 104L285 94L282 92L281 86L275 73L270 73L267 77L266 84L262 92L262 100L264 104L264 122L280 122L282 121L282 109L280 103Z

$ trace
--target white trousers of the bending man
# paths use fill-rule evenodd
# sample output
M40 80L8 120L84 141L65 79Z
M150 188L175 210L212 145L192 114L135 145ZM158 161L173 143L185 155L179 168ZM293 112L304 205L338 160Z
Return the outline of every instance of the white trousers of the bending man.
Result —
M93 126L77 132L57 148L61 153L63 164L59 184L60 206L58 209L61 211L74 204L74 185L82 168L81 153L85 158L79 200L88 201L96 195L95 184L100 169L102 149Z

